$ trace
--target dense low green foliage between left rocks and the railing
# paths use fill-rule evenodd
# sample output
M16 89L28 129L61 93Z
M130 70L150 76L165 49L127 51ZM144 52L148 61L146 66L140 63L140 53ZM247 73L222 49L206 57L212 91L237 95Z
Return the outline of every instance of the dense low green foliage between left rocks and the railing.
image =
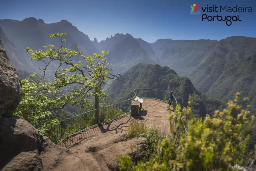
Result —
M32 77L36 76L33 74ZM34 125L40 133L46 135L49 127L58 124L57 119L50 119L50 110L63 103L62 98L54 99L51 96L52 89L46 89L50 84L44 84L43 79L38 84L34 80L26 77L22 80L22 99L14 111L14 115L22 116L26 121ZM50 107L50 108L49 108Z

